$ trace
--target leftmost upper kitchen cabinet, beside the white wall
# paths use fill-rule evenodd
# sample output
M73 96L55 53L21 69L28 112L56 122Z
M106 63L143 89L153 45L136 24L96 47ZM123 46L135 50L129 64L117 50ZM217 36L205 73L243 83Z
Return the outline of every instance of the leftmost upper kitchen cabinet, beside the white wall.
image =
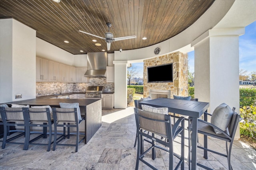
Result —
M36 81L48 81L48 60L36 57Z

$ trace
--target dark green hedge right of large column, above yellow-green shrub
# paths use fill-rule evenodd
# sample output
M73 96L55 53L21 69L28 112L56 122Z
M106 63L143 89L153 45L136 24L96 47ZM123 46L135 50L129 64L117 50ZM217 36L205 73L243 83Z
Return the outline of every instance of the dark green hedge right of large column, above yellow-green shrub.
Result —
M256 88L240 88L240 107L255 106Z

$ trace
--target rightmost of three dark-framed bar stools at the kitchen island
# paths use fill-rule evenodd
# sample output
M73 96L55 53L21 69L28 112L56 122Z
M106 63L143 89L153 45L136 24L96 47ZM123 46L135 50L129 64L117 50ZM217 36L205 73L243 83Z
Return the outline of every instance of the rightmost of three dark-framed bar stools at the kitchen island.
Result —
M54 119L54 143L53 149L55 150L56 145L64 145L64 146L75 146L76 152L78 151L78 144L81 143L85 139L84 133L79 133L79 124L85 120L82 117L82 120L78 120L78 114L76 108L52 108L53 119ZM57 138L57 127L63 127L63 133L60 137ZM66 135L66 127L68 128L68 132ZM70 127L76 129L75 133L70 133ZM66 137L69 139L70 135L76 135L76 144L64 144L60 143ZM79 141L79 135L84 135L84 137Z

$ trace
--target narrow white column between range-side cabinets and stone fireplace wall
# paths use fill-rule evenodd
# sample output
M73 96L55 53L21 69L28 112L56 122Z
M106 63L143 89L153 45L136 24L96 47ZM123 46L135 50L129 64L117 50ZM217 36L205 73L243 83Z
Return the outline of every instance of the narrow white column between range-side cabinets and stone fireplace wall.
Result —
M115 65L115 94L114 107L125 109L127 107L127 61L113 61Z

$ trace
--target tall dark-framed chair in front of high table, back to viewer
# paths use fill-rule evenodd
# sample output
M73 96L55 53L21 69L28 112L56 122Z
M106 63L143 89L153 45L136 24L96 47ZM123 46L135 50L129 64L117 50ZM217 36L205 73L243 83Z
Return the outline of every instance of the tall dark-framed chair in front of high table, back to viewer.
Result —
M154 113L149 111L144 111L142 109L134 108L136 127L138 134L138 149L137 149L137 159L136 159L136 170L138 170L139 161L150 168L157 170L149 162L144 160L144 156L147 152L152 150L152 159L156 158L155 148L159 148L169 152L169 169L173 169L174 156L180 159L175 169L181 166L184 169L184 117L177 117L178 120L174 125L171 124L171 116L167 114ZM145 131L149 131L152 135L148 135ZM173 140L181 134L181 155L174 153L173 150ZM158 136L156 136L158 135ZM151 147L144 151L144 137ZM162 140L161 137L167 139ZM156 143L158 145L156 145ZM163 146L160 146L163 145Z

